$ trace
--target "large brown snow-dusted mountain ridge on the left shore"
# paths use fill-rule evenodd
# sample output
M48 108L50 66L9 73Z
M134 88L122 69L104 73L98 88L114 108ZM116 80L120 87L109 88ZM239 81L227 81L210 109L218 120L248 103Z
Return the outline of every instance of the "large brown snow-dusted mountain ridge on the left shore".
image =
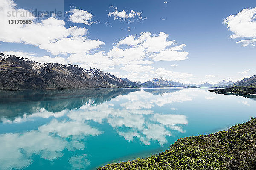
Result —
M136 85L136 86L133 86ZM99 69L58 63L38 63L29 58L0 53L0 89L84 89L137 87Z

